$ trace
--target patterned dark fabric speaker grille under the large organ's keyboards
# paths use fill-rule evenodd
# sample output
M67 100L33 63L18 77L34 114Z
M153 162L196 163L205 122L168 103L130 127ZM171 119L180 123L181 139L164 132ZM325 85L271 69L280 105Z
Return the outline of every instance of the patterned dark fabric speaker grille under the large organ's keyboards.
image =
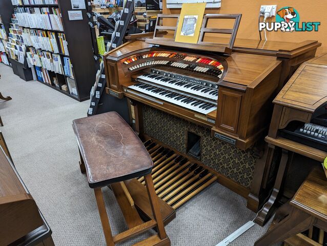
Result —
M143 106L144 131L164 144L186 154L187 133L201 136L201 162L218 173L250 188L256 162L253 148L240 150L211 137L210 129L174 115Z

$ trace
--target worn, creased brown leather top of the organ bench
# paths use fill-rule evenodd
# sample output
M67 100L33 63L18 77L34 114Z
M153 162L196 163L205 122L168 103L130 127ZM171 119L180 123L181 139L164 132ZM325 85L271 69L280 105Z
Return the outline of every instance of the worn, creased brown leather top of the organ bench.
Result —
M91 188L151 173L149 153L116 112L75 119L73 129Z

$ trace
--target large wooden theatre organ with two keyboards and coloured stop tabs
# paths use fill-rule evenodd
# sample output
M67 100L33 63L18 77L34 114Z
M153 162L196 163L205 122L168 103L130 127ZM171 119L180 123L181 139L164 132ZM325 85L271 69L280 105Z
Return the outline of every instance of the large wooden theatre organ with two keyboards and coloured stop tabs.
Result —
M209 28L211 18L230 18L235 24L232 29ZM135 130L153 145L147 147L152 156L173 150L175 156L158 169L185 157L247 197L248 207L257 210L269 190L254 170L264 151L258 143L269 127L272 100L320 44L235 39L239 21L240 15L205 15L198 44L184 44L174 42L171 31L176 27L160 26L158 20L153 38L131 35L129 42L105 55L106 92L129 99ZM231 38L226 42L208 33ZM178 168L156 176L169 182L182 172Z

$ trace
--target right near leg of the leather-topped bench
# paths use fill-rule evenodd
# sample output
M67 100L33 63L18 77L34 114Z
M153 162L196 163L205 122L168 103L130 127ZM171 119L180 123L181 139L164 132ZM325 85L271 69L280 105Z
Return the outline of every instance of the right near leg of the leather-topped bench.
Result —
M148 195L149 195L149 199L150 199L151 209L153 212L153 218L157 222L158 235L159 235L160 239L162 240L162 239L167 238L167 234L165 231L164 222L162 221L160 208L159 208L159 204L158 204L158 197L155 193L151 174L147 174L145 176L145 180L146 180L147 191L148 191Z

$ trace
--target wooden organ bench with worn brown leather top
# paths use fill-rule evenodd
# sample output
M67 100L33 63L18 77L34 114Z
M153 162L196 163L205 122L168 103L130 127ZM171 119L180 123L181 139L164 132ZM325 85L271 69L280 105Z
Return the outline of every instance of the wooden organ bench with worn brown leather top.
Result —
M84 161L80 163L80 168L82 172L86 171L89 186L94 189L107 245L114 246L154 227L158 234L134 245L170 245L151 177L152 159L130 126L116 112L109 112L76 119L73 121L73 128ZM133 208L133 199L124 183L125 180L140 176L145 177L153 213L153 219L147 222L141 221ZM120 204L120 207L131 211L130 216L125 218L130 229L116 236L112 236L101 192L102 187L109 185L116 197L125 195L126 202Z

